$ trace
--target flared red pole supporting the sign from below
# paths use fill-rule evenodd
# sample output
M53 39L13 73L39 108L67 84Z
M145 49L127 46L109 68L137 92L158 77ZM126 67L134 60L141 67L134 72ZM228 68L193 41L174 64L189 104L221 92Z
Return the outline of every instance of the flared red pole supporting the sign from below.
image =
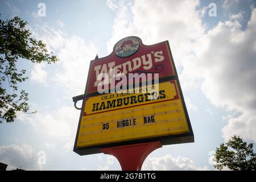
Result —
M140 171L144 160L154 150L161 148L160 141L137 144L127 144L117 147L101 148L104 154L117 158L123 171Z

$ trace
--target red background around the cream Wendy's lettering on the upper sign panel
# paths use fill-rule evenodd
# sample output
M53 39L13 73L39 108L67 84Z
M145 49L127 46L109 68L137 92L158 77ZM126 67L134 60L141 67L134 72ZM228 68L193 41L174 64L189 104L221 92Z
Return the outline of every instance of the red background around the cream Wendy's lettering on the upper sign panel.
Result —
M85 89L86 94L97 92L97 86L94 86L94 82L96 82L96 75L97 75L95 70L96 67L100 66L102 68L105 64L105 67L109 71L108 64L111 62L114 62L114 65L117 66L117 65L126 64L127 61L131 61L130 64L132 65L134 59L140 58L141 60L144 59L148 61L150 60L148 56L150 56L152 61L152 65L150 69L144 69L143 64L141 64L141 67L139 67L138 69L129 71L129 65L126 64L125 65L126 76L128 76L129 73L138 73L138 74L139 73L159 73L159 79L175 76L174 66L172 65L173 61L169 51L170 46L169 46L168 40L161 43L153 44L151 46L146 46L142 43L142 40L138 37L130 36L128 38L136 38L139 42L138 51L135 52L133 55L127 56L127 57L118 57L117 54L115 53L115 48L117 47L117 44L118 44L117 43L113 48L113 52L110 53L109 56L102 57L100 59L95 59L90 62L90 69L89 69L89 74L88 74L88 79L87 79L86 89ZM164 57L164 60L156 62L155 60L158 59L157 56L159 55L160 56L162 55ZM119 72L123 73L124 71L123 68L124 67L121 66L121 68L119 69ZM110 84L109 84L109 88L110 88Z

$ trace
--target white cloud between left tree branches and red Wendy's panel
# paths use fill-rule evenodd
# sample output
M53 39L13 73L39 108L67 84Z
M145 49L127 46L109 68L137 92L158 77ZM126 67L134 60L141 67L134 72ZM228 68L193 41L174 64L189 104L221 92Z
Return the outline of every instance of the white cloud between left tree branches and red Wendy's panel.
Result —
M64 87L68 94L84 93L88 65L96 56L96 46L92 42L85 43L79 36L69 36L46 24L29 28L32 35L42 39L49 51L53 51L60 60L54 65L56 69L51 81Z

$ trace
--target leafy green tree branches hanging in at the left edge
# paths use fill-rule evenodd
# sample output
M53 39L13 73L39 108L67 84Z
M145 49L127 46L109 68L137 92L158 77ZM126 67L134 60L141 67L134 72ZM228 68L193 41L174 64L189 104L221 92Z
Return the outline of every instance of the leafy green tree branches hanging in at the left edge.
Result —
M30 113L28 94L18 89L18 83L28 78L26 70L16 68L18 59L48 64L58 60L53 52L47 51L42 40L31 38L26 24L18 16L10 20L0 19L0 123L14 122L18 111Z

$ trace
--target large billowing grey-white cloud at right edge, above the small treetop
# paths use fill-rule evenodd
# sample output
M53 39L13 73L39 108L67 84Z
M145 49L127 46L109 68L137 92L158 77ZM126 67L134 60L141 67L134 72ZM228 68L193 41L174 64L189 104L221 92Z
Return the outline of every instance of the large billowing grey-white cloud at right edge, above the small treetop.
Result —
M255 35L256 9L244 31L236 19L219 22L197 40L194 54L183 62L182 74L188 80L201 80L201 89L213 105L241 113L229 118L222 130L225 140L233 134L256 140Z

